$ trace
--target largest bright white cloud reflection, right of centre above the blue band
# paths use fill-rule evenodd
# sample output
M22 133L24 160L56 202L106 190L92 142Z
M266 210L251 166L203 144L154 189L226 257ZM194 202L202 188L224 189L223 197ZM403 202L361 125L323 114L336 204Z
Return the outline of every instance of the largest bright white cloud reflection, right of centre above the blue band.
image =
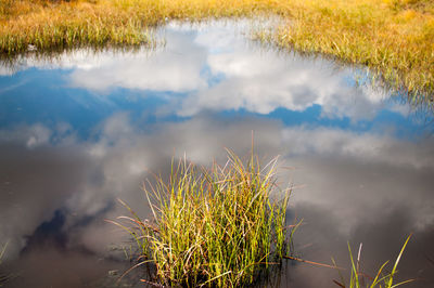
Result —
M212 41L200 42L213 47ZM212 75L224 79L189 94L177 110L179 115L191 116L204 109L269 114L279 107L303 112L318 104L323 116L357 120L373 117L383 106L384 95L379 90L354 87L348 80L353 71L337 70L329 61L264 50L240 38L233 38L231 48L208 55Z

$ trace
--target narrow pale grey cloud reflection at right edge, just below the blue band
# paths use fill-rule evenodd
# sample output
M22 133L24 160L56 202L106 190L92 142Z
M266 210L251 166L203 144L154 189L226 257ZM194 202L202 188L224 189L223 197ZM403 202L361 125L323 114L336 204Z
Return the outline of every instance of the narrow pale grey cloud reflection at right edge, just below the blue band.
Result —
M293 127L283 130L291 142L291 155L352 157L361 162L383 162L393 167L434 169L434 139L423 142L396 139L387 133L356 133L341 129Z

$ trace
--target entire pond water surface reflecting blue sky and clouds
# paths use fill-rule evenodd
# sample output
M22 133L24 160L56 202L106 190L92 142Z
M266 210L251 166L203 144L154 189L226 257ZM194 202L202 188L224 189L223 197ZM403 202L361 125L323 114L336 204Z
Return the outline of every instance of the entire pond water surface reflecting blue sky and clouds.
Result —
M361 70L248 42L244 24L169 25L165 47L74 51L0 66L0 272L9 287L110 287L127 237L104 219L140 213L149 171L171 157L225 160L225 147L281 155L304 219L297 256L348 266L362 243L373 274L394 261L408 287L434 286L432 117L357 86ZM141 209L141 210L140 210ZM1 273L0 273L1 274ZM347 272L344 272L347 275ZM288 262L281 287L337 287L335 271ZM128 285L128 283L124 283Z

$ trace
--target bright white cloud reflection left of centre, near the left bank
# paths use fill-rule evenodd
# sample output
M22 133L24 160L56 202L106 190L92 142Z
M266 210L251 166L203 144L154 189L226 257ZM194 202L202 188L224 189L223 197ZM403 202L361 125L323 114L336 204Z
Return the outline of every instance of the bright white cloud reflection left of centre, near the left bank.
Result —
M173 42L166 49L129 54L104 53L94 65L77 66L69 75L71 84L95 91L126 88L186 92L206 87L206 79L201 76L206 51L183 35L168 31L167 37ZM184 51L175 49L178 47Z

